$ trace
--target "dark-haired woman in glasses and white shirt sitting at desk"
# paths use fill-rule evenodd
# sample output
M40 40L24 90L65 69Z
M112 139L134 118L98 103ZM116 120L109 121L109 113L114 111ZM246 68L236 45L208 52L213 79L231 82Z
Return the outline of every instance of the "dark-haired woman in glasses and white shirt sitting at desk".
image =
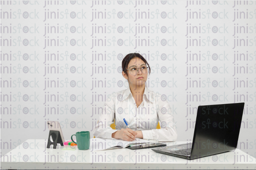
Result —
M135 138L154 141L175 141L177 133L168 102L161 100L146 86L150 67L138 53L127 54L122 60L122 75L128 80L126 90L113 92L103 106L98 123L92 133L96 138L122 139ZM123 118L129 125L126 125ZM115 120L115 130L110 125ZM160 121L161 129L156 129Z

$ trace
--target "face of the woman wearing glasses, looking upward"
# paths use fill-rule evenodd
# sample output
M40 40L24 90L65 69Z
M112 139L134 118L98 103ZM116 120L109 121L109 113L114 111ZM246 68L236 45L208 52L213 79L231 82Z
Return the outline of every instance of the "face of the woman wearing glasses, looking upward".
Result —
M146 64L144 63L144 61L142 61L140 58L134 57L134 58L132 58L132 59L130 60L130 62L129 62L129 64L128 64L127 68L128 68L128 69L129 69L129 68L133 68L132 66L136 66L137 68L141 68L141 65L142 65L142 64L143 64L143 65L146 65ZM147 70L146 66L144 67L144 69ZM133 69L133 70L134 70L134 69ZM136 87L136 86L138 86L138 87L140 87L140 86L143 87L143 86L144 86L144 84L145 84L145 82L146 82L146 80L147 80L147 73L141 72L140 69L138 69L138 72L136 72L135 75L132 75L129 70L127 70L126 72L127 72L128 76L124 73L124 71L122 71L122 75L123 75L123 77L124 77L125 79L128 80L128 82L129 82L133 87ZM138 79L139 77L143 77L143 78L142 78L142 79Z

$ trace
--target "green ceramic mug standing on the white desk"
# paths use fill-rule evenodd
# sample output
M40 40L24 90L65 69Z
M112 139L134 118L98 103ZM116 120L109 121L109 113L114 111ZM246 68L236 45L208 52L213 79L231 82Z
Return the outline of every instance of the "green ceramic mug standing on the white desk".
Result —
M73 141L72 137L76 137L76 142ZM71 136L73 143L77 145L78 150L88 150L90 148L90 132L80 131L76 132L75 135Z

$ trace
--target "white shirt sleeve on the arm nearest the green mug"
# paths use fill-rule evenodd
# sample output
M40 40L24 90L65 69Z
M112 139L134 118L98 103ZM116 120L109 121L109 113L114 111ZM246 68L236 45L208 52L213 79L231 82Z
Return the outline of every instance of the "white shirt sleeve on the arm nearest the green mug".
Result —
M112 138L112 133L118 131L110 127L110 125L114 123L115 94L115 92L110 94L103 105L102 113L99 115L98 122L92 130L92 134L95 138L114 139Z

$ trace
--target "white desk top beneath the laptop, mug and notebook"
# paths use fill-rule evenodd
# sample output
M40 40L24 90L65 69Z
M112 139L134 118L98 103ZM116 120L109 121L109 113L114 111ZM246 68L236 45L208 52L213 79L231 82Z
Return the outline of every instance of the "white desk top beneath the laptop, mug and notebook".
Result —
M167 146L185 142L170 142ZM61 147L46 148L47 140L26 140L1 157L1 169L256 169L256 159L236 149L231 152L185 160L151 149L115 149L91 152Z

